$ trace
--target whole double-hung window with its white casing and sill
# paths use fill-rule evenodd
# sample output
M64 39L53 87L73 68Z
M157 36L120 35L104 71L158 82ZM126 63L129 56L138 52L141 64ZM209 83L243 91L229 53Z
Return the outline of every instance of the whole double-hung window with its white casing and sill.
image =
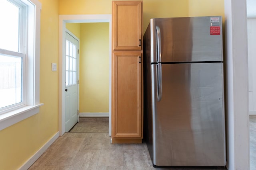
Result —
M0 130L38 113L42 105L40 10L38 0L0 0Z

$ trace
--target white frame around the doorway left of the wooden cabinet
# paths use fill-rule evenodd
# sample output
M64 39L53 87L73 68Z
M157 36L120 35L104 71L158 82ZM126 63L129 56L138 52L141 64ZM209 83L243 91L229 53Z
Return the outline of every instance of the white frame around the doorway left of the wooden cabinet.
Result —
M98 14L98 15L59 15L59 119L58 119L58 130L59 134L63 135L65 133L65 61L63 60L65 55L65 33L66 33L66 23L99 23L108 22L109 23L109 97L108 97L108 119L109 119L109 136L111 136L111 37L112 37L112 15L111 14ZM79 109L79 108L78 108Z

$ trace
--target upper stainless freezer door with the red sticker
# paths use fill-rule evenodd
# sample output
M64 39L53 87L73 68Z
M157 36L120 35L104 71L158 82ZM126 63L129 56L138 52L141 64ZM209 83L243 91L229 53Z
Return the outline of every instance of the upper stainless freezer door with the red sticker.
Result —
M213 18L217 20L212 21ZM223 61L221 16L151 19L147 28L150 29L151 63L158 62L157 28L161 32L162 63Z

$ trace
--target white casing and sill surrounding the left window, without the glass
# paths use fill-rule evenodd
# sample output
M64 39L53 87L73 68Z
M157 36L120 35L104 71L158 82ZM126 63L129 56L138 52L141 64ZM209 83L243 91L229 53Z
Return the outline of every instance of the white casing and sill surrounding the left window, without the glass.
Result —
M36 113L39 113L40 104L40 13L42 4L38 0L14 0L28 6L26 44L22 44L21 49L26 53L24 63L24 105L14 108L6 113L0 114L0 130L5 129L19 121L22 121ZM24 39L24 37L23 37Z

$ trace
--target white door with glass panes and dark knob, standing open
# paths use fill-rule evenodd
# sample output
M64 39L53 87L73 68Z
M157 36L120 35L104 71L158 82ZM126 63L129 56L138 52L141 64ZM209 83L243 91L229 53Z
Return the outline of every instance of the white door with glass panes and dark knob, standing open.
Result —
M78 122L78 40L66 32L65 132Z

